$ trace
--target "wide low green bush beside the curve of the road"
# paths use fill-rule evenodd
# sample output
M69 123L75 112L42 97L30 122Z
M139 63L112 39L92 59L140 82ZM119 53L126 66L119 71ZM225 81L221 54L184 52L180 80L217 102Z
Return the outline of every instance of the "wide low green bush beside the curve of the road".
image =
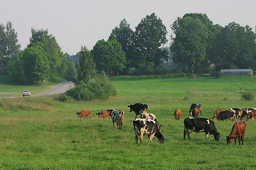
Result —
M105 100L110 96L117 96L114 86L105 74L97 74L94 79L90 79L86 84L80 81L80 84L66 91L65 94L78 101Z

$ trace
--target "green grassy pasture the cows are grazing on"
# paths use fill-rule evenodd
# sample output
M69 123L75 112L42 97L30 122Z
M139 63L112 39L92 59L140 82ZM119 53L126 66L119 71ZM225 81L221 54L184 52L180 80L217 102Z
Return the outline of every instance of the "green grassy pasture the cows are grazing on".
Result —
M256 123L246 122L244 145L226 145L234 122L215 121L220 141L192 132L183 141L183 119L191 103L201 103L203 118L218 108L255 108L241 91L256 91L256 77L200 79L112 79L117 97L107 101L58 102L55 96L0 99L0 169L256 169ZM1 85L0 85L1 86ZM14 87L13 87L14 88ZM15 87L16 88L16 87ZM0 93L3 90L0 89ZM165 137L136 145L129 104L147 103ZM123 130L95 113L124 110ZM174 111L180 108L181 120ZM75 114L90 110L92 118Z

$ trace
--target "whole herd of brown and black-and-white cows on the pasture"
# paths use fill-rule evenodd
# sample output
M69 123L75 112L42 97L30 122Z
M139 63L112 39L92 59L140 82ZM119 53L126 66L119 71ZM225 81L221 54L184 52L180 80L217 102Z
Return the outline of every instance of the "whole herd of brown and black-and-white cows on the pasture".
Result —
M130 112L134 111L136 114L135 119L133 120L136 144L139 139L140 142L142 142L144 135L148 135L149 142L151 142L153 137L157 137L159 143L164 143L164 135L162 135L160 132L161 125L159 125L158 121L156 120L156 115L147 112L148 106L142 103L135 103L134 105L131 104L128 107L130 108ZM242 118L246 117L246 120L250 120L250 118L254 120L256 116L255 108L230 108L229 110L218 109L213 115L213 120L207 118L198 118L199 112L202 115L201 104L193 103L189 110L189 114L192 117L185 118L184 120L183 140L185 140L186 135L190 140L191 132L205 132L206 140L208 140L208 135L213 135L214 139L218 141L220 138L220 133L215 128L215 124L213 122L215 118L218 118L218 120L237 120L237 118L242 120ZM77 114L78 118L90 118L90 111L81 111ZM117 123L117 128L122 130L124 111L121 109L110 109L96 114L98 115L98 118L112 118L113 127L114 123ZM174 112L176 120L179 120L181 115L181 110L176 109ZM226 138L227 144L231 144L233 139L235 140L236 144L236 140L238 138L239 145L240 142L242 142L243 145L245 128L246 123L244 121L236 122L233 125L230 135L228 135Z

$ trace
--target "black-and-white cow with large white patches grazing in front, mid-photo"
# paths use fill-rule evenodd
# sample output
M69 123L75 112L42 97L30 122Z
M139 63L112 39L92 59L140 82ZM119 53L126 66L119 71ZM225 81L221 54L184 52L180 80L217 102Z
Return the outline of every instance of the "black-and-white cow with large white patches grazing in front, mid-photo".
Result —
M151 142L152 138L155 136L158 138L159 143L164 143L164 135L161 134L156 121L149 119L135 119L133 120L133 125L136 144L139 139L142 143L143 135L148 135L149 142Z

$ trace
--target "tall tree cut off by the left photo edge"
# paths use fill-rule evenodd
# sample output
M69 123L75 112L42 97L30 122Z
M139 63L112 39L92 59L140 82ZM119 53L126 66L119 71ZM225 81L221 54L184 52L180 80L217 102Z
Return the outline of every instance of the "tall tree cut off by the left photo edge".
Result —
M11 22L7 22L6 26L0 25L0 74L6 74L11 57L20 51L17 36Z

